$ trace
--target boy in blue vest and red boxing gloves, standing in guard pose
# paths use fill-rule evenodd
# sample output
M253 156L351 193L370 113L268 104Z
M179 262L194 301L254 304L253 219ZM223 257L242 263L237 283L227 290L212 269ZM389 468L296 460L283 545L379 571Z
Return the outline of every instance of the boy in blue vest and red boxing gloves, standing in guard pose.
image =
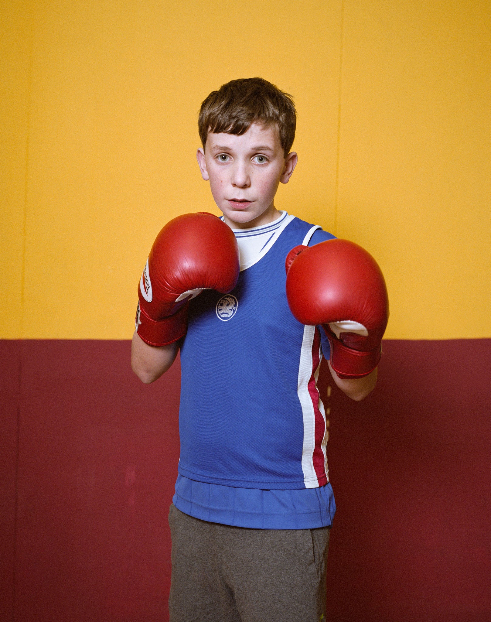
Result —
M375 386L385 324L382 309L378 343L366 348L372 325L367 331L354 313L300 323L288 307L317 308L298 292L316 280L319 251L334 248L322 244L334 236L274 204L297 162L295 121L291 97L262 78L232 80L204 100L197 158L222 220L198 213L168 223L140 281L132 368L153 382L181 351L172 622L325 618L335 505L315 383L330 341L334 382L363 399ZM342 265L362 251L355 246ZM342 289L343 279L321 290ZM325 330L303 325L319 322Z

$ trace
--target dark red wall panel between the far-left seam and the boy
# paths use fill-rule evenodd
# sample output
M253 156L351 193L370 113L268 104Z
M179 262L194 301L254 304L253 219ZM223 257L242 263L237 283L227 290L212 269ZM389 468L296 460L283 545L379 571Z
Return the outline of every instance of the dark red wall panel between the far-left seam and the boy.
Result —
M166 620L179 366L145 386L127 341L22 350L14 620Z

